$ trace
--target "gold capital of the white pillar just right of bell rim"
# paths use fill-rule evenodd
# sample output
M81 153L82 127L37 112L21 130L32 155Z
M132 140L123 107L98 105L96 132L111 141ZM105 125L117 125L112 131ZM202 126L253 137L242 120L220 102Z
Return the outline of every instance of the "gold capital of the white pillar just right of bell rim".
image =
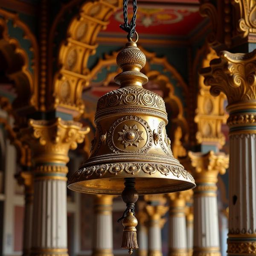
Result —
M223 152L209 151L204 154L189 151L189 158L194 167L192 172L196 183L216 184L218 174L223 175L229 166L229 156Z

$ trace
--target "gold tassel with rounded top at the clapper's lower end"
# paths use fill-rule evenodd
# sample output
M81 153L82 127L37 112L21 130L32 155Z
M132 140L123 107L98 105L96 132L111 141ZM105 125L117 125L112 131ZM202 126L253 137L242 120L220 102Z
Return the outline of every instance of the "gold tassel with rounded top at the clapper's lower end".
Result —
M134 217L131 209L125 216L122 222L123 229L123 237L122 237L122 248L128 249L129 254L132 254L132 249L138 249L137 244L137 233L136 226L138 224L137 218Z

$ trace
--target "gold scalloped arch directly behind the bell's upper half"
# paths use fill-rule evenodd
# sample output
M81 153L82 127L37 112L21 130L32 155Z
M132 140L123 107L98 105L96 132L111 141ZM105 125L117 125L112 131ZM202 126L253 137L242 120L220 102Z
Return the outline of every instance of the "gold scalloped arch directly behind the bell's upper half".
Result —
M165 57L158 58L156 56L156 53L148 52L145 49L143 49L143 47L139 47L145 53L145 56L148 60L142 72L145 73L146 76L148 76L149 81L154 81L157 84L160 84L163 91L168 92L164 93L163 99L166 103L167 113L171 113L170 120L172 120L172 125L169 137L171 141L174 142L172 143L172 150L174 151L174 154L177 154L177 156L185 156L186 149L183 147L182 142L187 142L188 140L188 123L184 117L183 105L180 99L177 96L175 96L174 86L169 81L169 78L166 75L160 73L159 71L151 70L150 64L163 65L164 70L170 72L172 76L176 79L177 84L182 86L185 95L188 92L187 85L183 81L182 77L177 72L177 70L168 63ZM111 82L113 82L114 77L120 72L119 68L116 65L117 54L118 52L113 52L111 55L106 54L104 59L99 59L98 63L93 67L93 69L88 74L90 79L88 80L87 89L93 87L91 81L97 78L97 74L100 73L102 69L111 66L116 66L116 71L108 72L105 79L103 81L100 81L100 84L103 86L108 86ZM84 102L84 104L86 105L87 103ZM86 111L86 113L83 114L83 117L89 119L90 122L93 123L94 113L87 113ZM88 143L86 144L88 145Z

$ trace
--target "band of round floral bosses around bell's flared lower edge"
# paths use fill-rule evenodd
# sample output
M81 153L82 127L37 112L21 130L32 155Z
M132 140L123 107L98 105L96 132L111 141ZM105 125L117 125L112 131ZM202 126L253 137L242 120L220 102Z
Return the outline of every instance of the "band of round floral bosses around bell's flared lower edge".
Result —
M164 176L172 173L172 175L176 177L180 177L180 175L182 175L186 180L195 182L194 178L189 172L178 166L169 166L158 163L107 163L79 169L70 177L68 184L76 182L81 178L81 176L88 179L91 175L93 175L93 172L100 177L104 176L107 172L113 175L119 175L122 172L126 172L131 175L144 172L152 175L155 172L160 172Z

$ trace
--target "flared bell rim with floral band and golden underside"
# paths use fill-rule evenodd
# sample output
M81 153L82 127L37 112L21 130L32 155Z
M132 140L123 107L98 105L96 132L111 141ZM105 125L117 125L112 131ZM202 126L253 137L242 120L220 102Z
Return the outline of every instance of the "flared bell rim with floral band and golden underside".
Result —
M75 172L68 180L68 188L78 192L84 192L89 194L111 194L120 195L122 193L124 178L133 177L137 179L157 179L164 180L162 182L163 187L152 188L145 186L144 189L137 187L140 195L143 194L158 194L158 193L170 193L176 191L182 191L192 189L195 187L195 180L192 175L187 172L182 165L175 164L161 164L161 163L148 163L148 162L116 162L116 163L101 163L98 165L90 165L87 167L81 166L80 169ZM112 184L112 180L119 179L114 191L110 191L108 185L99 186L97 183ZM159 179L159 180L158 180ZM101 181L99 181L101 180ZM103 181L102 181L103 180ZM169 180L169 181L166 181ZM115 182L116 182L115 181ZM145 181L145 180L143 180ZM152 181L152 180L151 180ZM150 182L151 182L150 181ZM149 183L150 183L149 182ZM178 185L174 185L174 183ZM91 183L91 184L90 184ZM121 185L120 185L121 184ZM161 185L160 184L160 185ZM152 191L152 192L151 192Z

